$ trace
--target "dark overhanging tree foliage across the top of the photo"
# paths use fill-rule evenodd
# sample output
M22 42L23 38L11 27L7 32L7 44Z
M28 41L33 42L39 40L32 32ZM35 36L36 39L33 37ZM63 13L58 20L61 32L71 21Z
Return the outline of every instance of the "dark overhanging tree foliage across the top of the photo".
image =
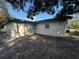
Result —
M54 14L54 6L61 1L63 9L59 12L58 16L66 16L73 13L79 12L79 0L6 0L9 2L13 8L27 12L27 17L32 18L33 16L39 14L39 12L47 12L48 14ZM26 3L30 2L32 6L27 10Z

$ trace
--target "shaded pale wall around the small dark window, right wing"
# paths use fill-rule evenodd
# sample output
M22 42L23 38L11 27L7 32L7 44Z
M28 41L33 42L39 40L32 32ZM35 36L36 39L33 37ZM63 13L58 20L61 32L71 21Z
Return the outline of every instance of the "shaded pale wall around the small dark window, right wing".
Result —
M49 24L49 28L45 28L45 24ZM38 34L49 36L64 36L66 21L44 22L37 24Z

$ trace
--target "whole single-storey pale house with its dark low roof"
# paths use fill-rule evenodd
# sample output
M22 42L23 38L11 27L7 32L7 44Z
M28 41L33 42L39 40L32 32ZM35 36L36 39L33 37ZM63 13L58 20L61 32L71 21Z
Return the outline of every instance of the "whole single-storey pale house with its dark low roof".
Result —
M48 36L64 36L67 17L40 21L9 20L4 29L11 37L32 35L34 33Z

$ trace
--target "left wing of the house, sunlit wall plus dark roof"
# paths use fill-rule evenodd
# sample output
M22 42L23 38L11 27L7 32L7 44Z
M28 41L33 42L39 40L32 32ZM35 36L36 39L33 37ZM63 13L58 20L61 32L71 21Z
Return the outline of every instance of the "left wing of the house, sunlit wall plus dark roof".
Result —
M19 19L9 20L4 26L5 32L11 37L19 37L24 35L31 35L32 22L22 21Z

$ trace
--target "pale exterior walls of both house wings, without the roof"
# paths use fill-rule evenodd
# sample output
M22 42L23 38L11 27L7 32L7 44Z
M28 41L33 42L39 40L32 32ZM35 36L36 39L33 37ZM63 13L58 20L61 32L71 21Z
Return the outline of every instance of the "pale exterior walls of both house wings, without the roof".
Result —
M45 28L45 24L49 24L49 28ZM38 23L36 27L33 27L32 24L9 23L4 29L11 38L16 38L19 36L31 35L33 33L49 36L64 36L65 27L66 21L54 21Z

